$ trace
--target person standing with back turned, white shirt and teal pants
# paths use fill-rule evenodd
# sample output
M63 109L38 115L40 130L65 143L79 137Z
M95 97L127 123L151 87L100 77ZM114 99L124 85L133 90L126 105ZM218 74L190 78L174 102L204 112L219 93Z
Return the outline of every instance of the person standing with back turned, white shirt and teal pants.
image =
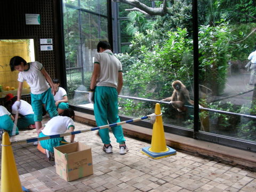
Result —
M123 86L122 64L111 52L110 44L100 41L98 53L94 58L94 69L91 78L89 101L94 103L94 115L98 126L120 122L118 117L118 94ZM121 125L111 127L116 141L119 143L120 154L126 154L123 129ZM99 130L104 143L103 150L113 153L110 144L109 129Z

